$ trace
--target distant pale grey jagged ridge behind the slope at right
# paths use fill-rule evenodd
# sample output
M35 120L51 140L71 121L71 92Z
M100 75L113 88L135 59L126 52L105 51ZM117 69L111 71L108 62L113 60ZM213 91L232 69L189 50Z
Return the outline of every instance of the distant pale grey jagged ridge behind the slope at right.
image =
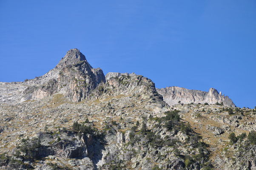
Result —
M181 103L208 103L208 104L219 104L223 102L225 106L235 107L236 105L229 99L228 96L224 96L221 92L219 93L216 89L210 88L209 92L189 90L186 88L179 87L168 87L156 89L159 94L163 96L163 99L168 105L176 105L180 101Z

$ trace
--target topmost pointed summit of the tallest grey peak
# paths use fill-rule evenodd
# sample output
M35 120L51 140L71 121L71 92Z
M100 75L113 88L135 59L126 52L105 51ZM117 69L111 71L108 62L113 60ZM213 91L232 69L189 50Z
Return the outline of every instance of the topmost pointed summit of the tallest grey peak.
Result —
M74 48L67 52L65 57L63 57L60 60L60 62L57 64L56 68L63 68L66 65L73 65L80 61L87 62L85 56L77 48ZM92 68L89 63L88 63L88 65L90 66L90 68Z

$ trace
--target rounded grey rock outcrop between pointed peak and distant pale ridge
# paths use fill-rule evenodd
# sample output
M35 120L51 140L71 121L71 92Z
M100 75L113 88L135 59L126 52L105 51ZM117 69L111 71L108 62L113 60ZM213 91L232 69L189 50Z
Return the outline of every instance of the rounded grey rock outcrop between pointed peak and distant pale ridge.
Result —
M147 107L154 113L163 108L166 110L168 107L162 96L156 92L154 82L147 77L134 73L108 73L106 83L98 85L92 91L90 99L99 99L106 96L129 96L129 98L135 98L138 104L147 102Z

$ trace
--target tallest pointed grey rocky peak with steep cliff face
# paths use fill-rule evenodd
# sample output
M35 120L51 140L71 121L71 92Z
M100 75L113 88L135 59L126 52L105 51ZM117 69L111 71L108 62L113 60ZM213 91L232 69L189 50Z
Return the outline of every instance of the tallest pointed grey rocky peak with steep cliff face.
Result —
M21 101L61 93L74 102L80 102L100 82L105 82L102 70L92 68L78 49L71 49L47 74L25 81L24 85L30 86L24 91Z

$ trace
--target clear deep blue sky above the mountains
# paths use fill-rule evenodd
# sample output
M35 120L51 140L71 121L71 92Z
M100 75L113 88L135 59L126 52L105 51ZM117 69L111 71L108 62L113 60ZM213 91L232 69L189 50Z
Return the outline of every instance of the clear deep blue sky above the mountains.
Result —
M0 0L0 81L24 81L78 48L135 72L256 106L256 0Z

